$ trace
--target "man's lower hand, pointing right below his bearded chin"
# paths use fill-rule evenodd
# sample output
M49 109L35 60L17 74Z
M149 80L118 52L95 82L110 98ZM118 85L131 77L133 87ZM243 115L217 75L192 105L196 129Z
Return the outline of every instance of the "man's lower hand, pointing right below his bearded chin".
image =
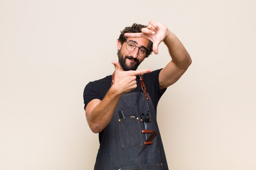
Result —
M115 77L112 87L114 87L119 94L128 93L137 87L137 75L152 72L150 69L121 71L119 63L112 61L112 64L115 65Z

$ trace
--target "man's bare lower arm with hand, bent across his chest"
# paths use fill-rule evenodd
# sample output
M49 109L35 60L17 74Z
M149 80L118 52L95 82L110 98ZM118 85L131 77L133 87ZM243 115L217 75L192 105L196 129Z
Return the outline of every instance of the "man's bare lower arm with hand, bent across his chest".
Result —
M94 99L85 108L85 116L94 133L101 132L110 123L121 95L137 87L136 76L152 71L149 69L121 71L119 63L112 63L115 65L115 78L112 87L103 100Z

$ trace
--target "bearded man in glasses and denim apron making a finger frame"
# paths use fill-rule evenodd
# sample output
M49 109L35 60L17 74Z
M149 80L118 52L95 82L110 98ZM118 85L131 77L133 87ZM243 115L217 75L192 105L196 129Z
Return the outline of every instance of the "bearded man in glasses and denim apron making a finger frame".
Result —
M172 60L159 70L137 70L164 41ZM95 170L168 169L156 121L157 103L191 64L180 40L159 22L126 27L117 42L115 72L84 90L85 115L99 133ZM142 75L143 74L143 75ZM161 113L160 113L161 114ZM147 147L146 147L147 146Z

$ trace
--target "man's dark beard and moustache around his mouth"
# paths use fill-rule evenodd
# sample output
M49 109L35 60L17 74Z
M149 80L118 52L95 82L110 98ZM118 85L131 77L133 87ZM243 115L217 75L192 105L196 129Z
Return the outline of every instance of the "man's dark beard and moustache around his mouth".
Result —
M131 59L135 61L135 63L131 66L128 66L126 64L126 59ZM118 52L118 61L121 65L121 67L124 69L124 71L129 71L129 70L137 70L138 66L140 65L139 59L133 58L132 56L126 55L125 57L121 53L121 51Z

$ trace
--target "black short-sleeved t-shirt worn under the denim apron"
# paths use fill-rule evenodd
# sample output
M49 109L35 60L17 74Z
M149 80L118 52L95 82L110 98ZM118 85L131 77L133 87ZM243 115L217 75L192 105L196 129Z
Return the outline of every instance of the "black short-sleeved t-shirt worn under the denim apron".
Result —
M162 69L155 70L153 72L143 74L143 81L146 86L146 92L149 93L150 98L153 102L153 105L155 107L155 111L157 111L157 103L159 99L161 98L162 94L165 92L166 89L162 90L160 92L159 89L159 72ZM131 92L143 92L141 89L141 84L139 81L139 76L136 78L137 80L137 87L133 89ZM83 92L83 100L84 100L84 108L87 106L87 104L93 100L93 99L99 99L103 100L104 96L108 92L108 90L111 87L111 81L112 81L112 75L106 76L105 78L102 78L100 80L96 80L93 82L88 83L85 86L84 92Z

